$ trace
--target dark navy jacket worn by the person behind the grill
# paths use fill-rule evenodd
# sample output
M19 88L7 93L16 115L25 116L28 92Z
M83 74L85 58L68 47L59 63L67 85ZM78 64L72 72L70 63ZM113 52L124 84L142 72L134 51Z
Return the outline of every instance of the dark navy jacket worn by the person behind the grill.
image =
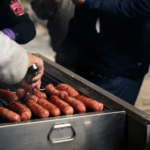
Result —
M76 6L67 39L78 45L70 42L80 70L141 77L150 63L150 0L86 0Z

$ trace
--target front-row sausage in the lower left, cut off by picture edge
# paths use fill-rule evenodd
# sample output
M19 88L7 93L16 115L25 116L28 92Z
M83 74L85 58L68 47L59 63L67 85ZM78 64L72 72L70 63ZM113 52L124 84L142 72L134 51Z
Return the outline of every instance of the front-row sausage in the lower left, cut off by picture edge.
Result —
M0 107L0 118L11 121L11 122L19 122L20 121L20 115L7 109Z

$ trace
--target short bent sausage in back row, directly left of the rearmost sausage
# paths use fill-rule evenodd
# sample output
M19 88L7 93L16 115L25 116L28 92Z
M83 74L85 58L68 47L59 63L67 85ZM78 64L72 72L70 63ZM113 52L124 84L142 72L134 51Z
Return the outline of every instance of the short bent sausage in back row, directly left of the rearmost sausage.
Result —
M49 95L56 95L60 97L61 99L64 99L65 95L68 95L66 91L59 91L55 89L53 84L48 84L47 86L45 86L45 90Z

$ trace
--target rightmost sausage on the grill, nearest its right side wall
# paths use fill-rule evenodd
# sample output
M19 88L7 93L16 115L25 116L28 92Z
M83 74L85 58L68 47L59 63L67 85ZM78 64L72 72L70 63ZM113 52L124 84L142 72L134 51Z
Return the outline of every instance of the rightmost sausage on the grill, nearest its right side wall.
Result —
M77 95L76 99L83 102L86 107L92 109L93 111L101 111L104 108L104 105L102 103L97 102L96 100L94 100L92 98L88 98L84 95Z

